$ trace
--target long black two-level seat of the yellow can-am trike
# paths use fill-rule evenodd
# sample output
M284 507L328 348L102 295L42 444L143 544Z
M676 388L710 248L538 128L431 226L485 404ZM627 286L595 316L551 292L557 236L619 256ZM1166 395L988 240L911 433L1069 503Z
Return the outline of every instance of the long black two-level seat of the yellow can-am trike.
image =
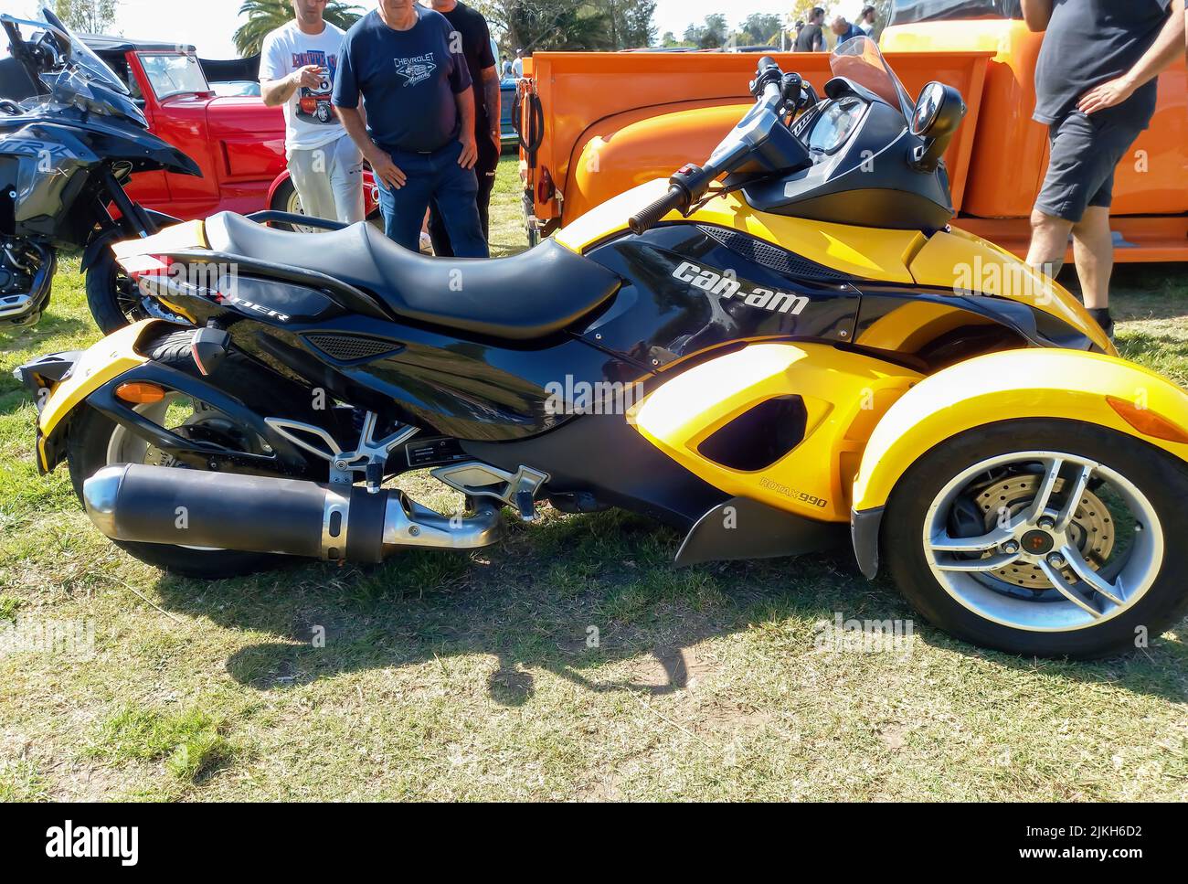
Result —
M399 317L491 337L531 340L573 324L620 279L552 240L512 258L426 258L362 222L289 233L232 211L207 220L217 252L314 270L369 291Z

